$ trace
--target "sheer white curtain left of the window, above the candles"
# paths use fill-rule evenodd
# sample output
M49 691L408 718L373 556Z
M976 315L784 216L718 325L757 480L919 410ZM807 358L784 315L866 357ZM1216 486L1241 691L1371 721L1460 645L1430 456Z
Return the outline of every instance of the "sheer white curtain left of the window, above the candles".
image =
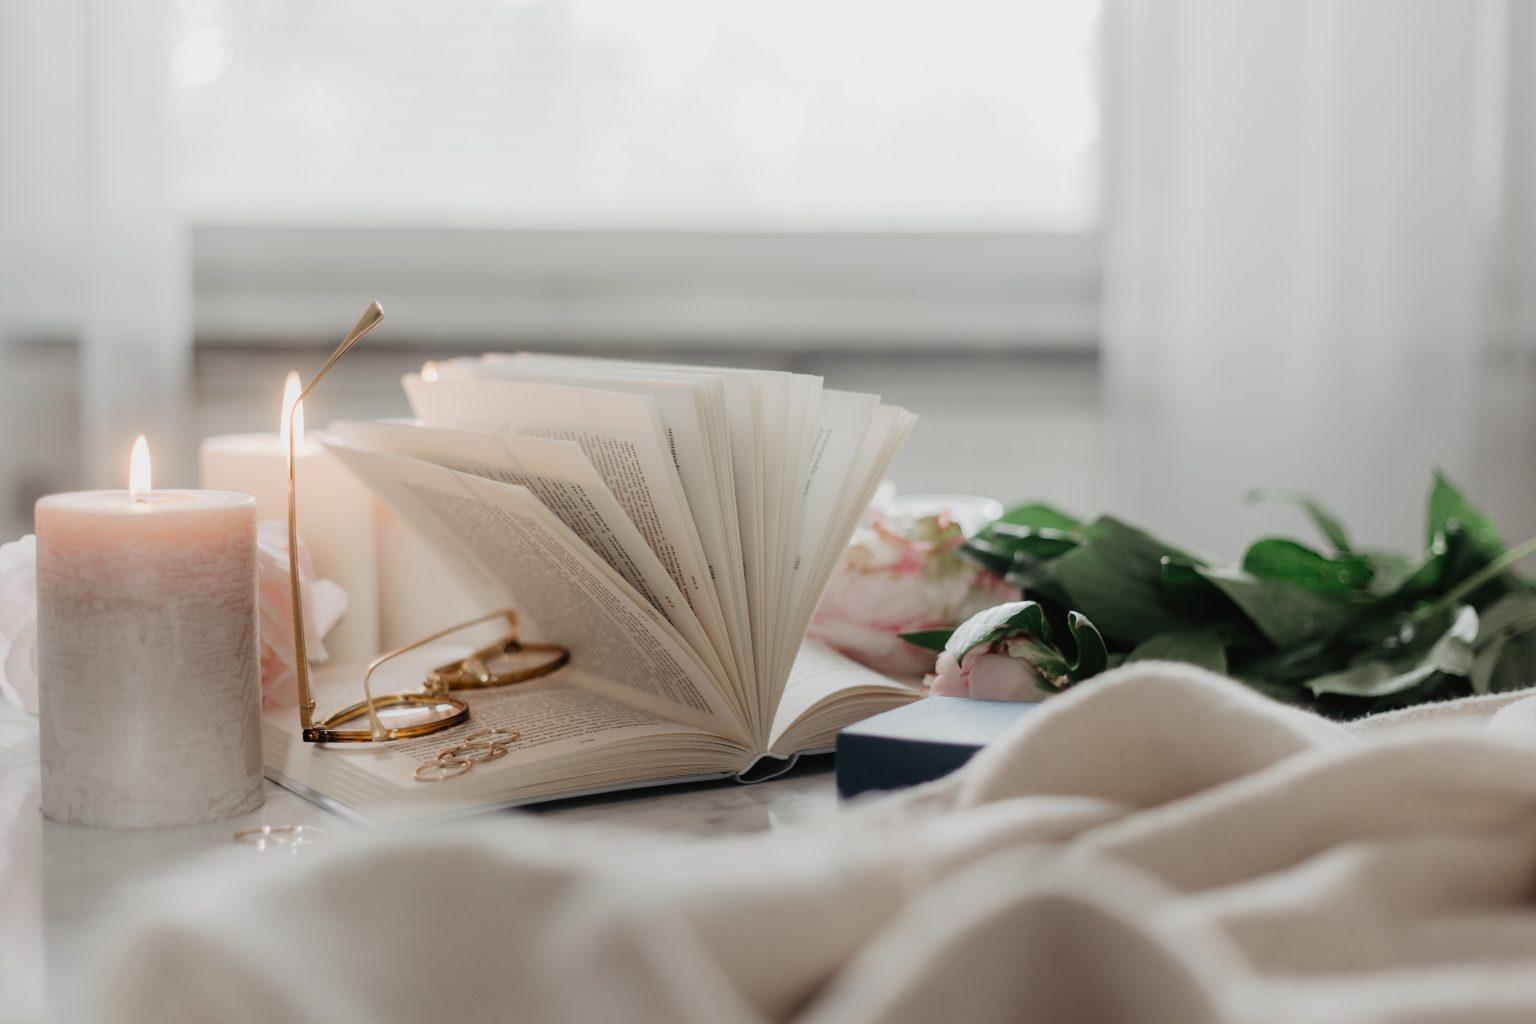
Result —
M0 427L29 439L8 444L9 459L52 445L68 465L78 447L81 479L51 487L123 487L138 433L157 482L190 484L192 278L167 15L166 0L0 0L0 348L80 342L78 438L38 436L48 410L23 381L6 381Z

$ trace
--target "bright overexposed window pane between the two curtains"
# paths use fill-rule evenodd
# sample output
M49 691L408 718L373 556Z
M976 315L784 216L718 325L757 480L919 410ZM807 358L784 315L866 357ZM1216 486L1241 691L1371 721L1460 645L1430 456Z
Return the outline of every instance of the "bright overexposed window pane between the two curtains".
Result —
M1080 232L1097 0L183 0L210 224Z

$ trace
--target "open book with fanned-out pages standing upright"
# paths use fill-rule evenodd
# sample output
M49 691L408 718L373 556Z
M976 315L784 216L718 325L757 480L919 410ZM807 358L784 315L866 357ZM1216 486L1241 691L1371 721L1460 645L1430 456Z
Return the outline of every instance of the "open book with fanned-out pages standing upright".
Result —
M753 778L917 695L802 646L911 413L779 372L518 353L429 378L406 378L415 421L333 424L327 447L476 603L515 608L524 639L564 645L571 662L459 692L470 722L419 740L316 748L292 712L269 712L267 774L281 785L396 821ZM413 689L470 646L396 659L376 686ZM358 677L324 672L321 706L327 686ZM412 778L488 726L521 732L507 757L441 783Z

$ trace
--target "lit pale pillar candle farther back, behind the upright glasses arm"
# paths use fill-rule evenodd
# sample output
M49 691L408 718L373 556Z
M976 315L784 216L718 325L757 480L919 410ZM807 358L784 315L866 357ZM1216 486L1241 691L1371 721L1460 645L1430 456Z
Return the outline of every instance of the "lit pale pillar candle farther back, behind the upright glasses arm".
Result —
M209 438L198 451L203 487L255 496L261 519L287 520L287 411L298 399L290 373L283 396L281 428L270 434ZM332 660L369 660L379 652L378 553L375 500L339 461L304 438L304 410L295 422L298 461L298 536L321 579L347 591L347 611L326 636Z

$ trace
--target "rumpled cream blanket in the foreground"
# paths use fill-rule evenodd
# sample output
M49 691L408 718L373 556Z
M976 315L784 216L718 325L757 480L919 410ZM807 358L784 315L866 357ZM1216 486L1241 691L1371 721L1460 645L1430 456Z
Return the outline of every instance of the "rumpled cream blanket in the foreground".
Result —
M104 1018L1530 1022L1536 697L1342 726L1141 665L819 827L504 815L174 892Z

